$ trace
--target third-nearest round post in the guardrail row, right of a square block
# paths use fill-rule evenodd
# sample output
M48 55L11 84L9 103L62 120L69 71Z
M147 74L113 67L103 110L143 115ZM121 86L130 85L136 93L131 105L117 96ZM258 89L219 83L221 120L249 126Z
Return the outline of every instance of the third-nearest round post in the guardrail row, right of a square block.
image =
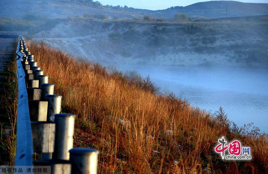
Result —
M61 98L60 95L46 95L46 101L48 101L47 121L54 122L54 115L60 113Z

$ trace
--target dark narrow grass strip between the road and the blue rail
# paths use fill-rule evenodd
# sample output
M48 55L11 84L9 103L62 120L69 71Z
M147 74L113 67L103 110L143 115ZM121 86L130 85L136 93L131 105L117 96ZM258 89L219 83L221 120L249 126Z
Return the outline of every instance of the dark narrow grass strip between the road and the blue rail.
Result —
M16 43L14 42L14 53L15 47ZM0 72L4 82L0 89L0 164L14 165L18 98L15 54L11 55L9 59L10 64L7 69ZM10 132L6 133L5 130L10 130Z

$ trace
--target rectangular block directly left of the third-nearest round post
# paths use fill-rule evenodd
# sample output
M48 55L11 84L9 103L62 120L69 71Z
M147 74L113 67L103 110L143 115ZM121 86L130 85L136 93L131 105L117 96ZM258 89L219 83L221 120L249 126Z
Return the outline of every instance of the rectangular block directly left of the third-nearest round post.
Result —
M47 101L28 100L31 121L46 122Z

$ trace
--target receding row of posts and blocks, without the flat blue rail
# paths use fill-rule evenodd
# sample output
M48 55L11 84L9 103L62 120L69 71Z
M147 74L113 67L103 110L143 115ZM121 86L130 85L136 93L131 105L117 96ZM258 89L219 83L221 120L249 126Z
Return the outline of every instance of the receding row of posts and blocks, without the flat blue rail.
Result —
M28 94L33 150L41 156L34 165L49 165L52 173L97 173L99 151L73 148L74 114L61 112L62 96L54 94L54 84L34 60L24 39L22 66Z

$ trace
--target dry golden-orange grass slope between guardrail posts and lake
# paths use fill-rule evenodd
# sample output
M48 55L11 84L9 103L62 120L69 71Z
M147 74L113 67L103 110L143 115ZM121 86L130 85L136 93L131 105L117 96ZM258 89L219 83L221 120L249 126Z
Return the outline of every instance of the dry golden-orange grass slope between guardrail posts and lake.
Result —
M267 136L245 139L251 162L223 162L214 146L219 137L233 134L208 112L43 43L27 45L55 84L54 93L63 95L62 111L77 115L75 146L100 151L99 173L267 171Z

